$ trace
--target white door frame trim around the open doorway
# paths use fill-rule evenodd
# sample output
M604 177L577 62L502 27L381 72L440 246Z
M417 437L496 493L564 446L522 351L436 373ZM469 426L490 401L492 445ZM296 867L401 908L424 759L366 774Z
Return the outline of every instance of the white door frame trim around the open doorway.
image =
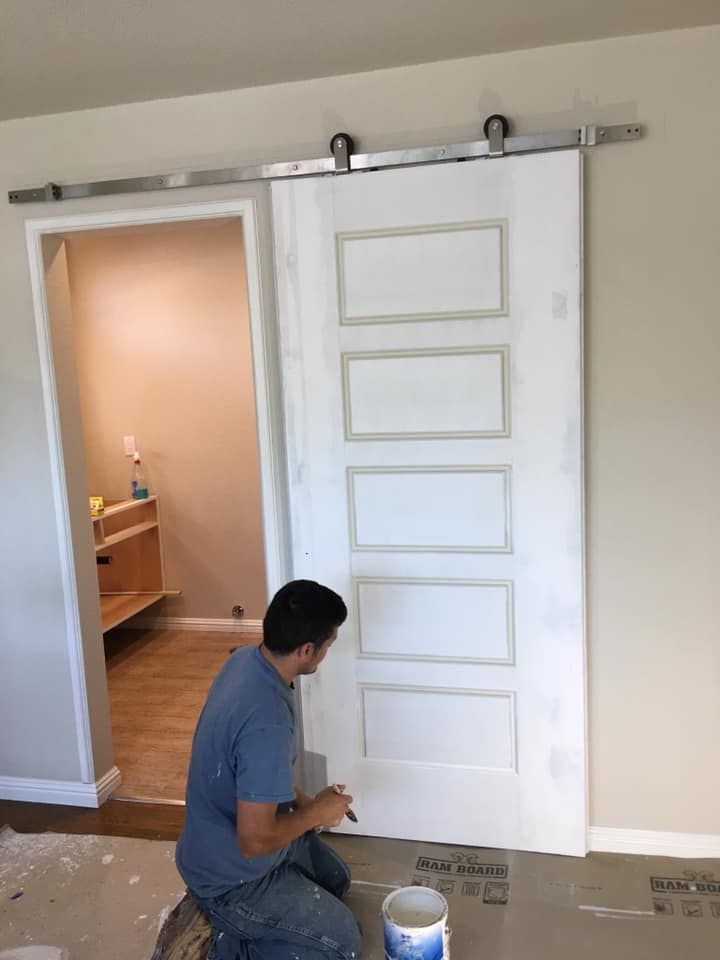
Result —
M68 500L66 456L61 429L61 409L56 382L56 366L52 342L52 323L45 287L43 239L86 230L111 230L119 227L149 226L162 223L183 223L197 220L239 218L245 245L248 307L252 345L265 574L268 597L288 579L287 490L285 438L281 415L280 372L274 356L277 342L276 318L267 309L262 296L262 272L258 235L258 211L252 198L217 200L199 203L178 203L170 206L110 209L102 212L78 213L25 222L33 310L48 433L50 475L55 505L59 545L60 573L65 606L66 642L69 655L75 730L81 781L94 784L88 791L87 803L99 806L119 785L116 767L96 770L93 758L93 731L89 709L88 681L85 670L84 639L81 611L97 596L78 583L74 558L74 539L78 521L73 524ZM82 425L76 424L78 430ZM73 473L75 471L72 471ZM102 634L101 634L102 636ZM85 638L87 639L87 638ZM100 639L100 638L98 638ZM109 714L109 710L108 710ZM106 718L109 726L109 715ZM93 802L94 801L94 802ZM86 801L81 801L85 805Z

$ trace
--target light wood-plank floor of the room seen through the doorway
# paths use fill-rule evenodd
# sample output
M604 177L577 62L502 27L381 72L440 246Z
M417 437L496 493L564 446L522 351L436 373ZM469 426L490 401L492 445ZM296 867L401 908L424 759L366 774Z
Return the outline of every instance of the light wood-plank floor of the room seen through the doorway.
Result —
M105 637L118 797L182 801L190 749L210 684L240 633L113 630Z

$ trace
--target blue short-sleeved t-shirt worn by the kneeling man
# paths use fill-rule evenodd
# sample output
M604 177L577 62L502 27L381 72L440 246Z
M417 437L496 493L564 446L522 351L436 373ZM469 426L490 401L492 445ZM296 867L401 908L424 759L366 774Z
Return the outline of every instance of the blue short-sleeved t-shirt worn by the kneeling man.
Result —
M292 688L259 647L237 650L210 688L193 741L175 859L196 896L221 896L283 861L287 848L252 860L242 855L236 800L294 800L294 758Z

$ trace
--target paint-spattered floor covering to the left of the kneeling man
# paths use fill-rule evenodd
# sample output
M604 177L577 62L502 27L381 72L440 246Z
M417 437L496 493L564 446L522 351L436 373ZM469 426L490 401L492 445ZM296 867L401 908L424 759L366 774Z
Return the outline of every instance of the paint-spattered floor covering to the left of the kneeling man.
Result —
M175 844L0 829L0 960L144 960L185 889Z

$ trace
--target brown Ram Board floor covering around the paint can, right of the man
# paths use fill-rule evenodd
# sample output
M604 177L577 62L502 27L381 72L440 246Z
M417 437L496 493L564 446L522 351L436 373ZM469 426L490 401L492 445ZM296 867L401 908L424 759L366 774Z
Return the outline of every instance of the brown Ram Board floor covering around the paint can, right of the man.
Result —
M378 914L408 884L449 904L452 960L718 960L720 861L570 857L333 837L348 905L383 960Z

